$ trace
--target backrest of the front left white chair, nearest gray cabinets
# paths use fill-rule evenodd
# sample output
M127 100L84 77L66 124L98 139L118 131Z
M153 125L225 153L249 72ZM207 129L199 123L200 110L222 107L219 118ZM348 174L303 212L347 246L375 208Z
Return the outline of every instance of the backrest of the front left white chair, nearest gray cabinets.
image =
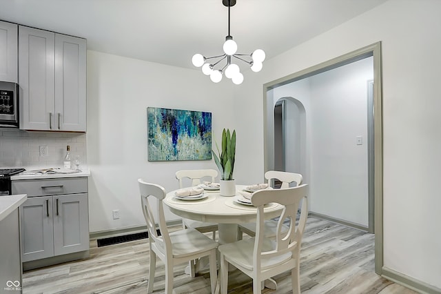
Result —
M164 254L172 256L172 242L168 235L167 225L165 224L165 215L163 208L163 199L165 198L165 189L156 184L150 184L144 182L143 179L138 179L139 192L141 193L141 205L143 208L143 214L147 228L149 231L149 243L150 246L158 247ZM156 222L154 219L152 204L149 202L149 198L154 197L158 202L158 226L161 235L158 235L156 231Z

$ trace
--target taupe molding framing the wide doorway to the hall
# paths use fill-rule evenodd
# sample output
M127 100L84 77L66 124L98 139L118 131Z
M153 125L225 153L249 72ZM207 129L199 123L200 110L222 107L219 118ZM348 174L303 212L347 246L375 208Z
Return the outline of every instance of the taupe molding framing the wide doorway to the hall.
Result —
M383 150L382 150L382 61L381 61L381 42L378 41L369 46L354 50L345 55L341 55L329 61L325 61L311 66L305 70L294 72L291 75L281 77L274 81L269 81L263 85L263 117L264 117L264 173L269 169L270 151L274 149L269 148L271 142L268 140L269 132L267 126L267 117L269 111L268 91L285 84L305 79L321 72L338 68L354 61L373 57L373 108L374 108L374 230L375 230L375 271L378 275L382 274L383 262ZM269 97L268 97L269 96ZM271 100L271 106L273 101ZM274 111L274 110L271 110ZM273 112L274 113L274 112Z

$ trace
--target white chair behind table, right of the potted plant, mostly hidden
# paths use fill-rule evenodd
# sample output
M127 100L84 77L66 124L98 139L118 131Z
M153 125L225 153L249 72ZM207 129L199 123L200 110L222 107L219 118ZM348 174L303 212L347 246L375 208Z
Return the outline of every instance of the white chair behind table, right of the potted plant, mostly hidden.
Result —
M268 181L268 186L271 186L271 182L277 179L281 182L281 189L289 188L292 186L299 186L302 184L303 177L300 173L288 173L278 170L268 170L265 173L265 179ZM277 222L274 219L268 219L265 221L265 234L266 237L274 237L276 235ZM287 226L282 226L282 230L287 230ZM238 239L242 239L243 233L254 237L256 235L256 224L246 223L238 225Z

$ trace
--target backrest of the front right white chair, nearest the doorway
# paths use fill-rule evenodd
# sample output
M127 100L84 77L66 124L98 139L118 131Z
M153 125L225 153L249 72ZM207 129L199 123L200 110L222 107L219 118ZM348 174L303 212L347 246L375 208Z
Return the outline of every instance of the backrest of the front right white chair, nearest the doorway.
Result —
M256 222L256 240L254 243L254 268L260 270L260 264L263 259L276 260L285 258L287 253L291 253L291 259L300 257L300 243L302 242L303 231L307 219L307 194L308 185L303 184L296 187L285 189L259 190L252 195L252 204L258 207ZM275 248L271 251L264 251L264 242L268 242L264 232L264 206L271 202L284 206L278 219ZM296 218L298 208L301 202L300 218L298 224ZM283 230L282 225L287 225L289 220L288 231ZM266 249L265 249L266 250ZM288 254L289 255L289 254ZM284 259L285 260L285 259Z

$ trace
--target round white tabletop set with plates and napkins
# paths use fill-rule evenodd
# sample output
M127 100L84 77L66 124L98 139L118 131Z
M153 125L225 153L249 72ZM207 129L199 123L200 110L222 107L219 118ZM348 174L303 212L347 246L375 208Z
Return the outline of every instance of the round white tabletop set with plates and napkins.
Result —
M219 190L205 190L205 198L200 200L180 200L175 196L176 190L167 193L163 203L172 213L187 219L200 222L214 222L218 224L240 224L256 222L257 208L247 206L236 201L246 186L236 185L236 196L220 196ZM283 206L280 204L268 204L264 208L265 218L271 219L280 215Z

